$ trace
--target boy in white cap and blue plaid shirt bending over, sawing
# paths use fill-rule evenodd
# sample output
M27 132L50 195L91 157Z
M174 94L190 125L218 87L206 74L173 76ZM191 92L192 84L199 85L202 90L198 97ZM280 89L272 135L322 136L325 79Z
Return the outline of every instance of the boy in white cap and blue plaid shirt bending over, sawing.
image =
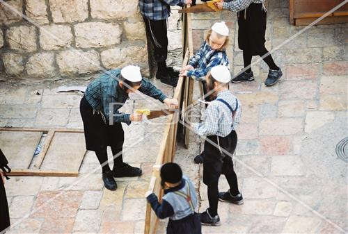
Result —
M80 112L84 122L86 149L95 151L102 166L102 179L108 190L116 190L113 177L140 176L141 169L123 162L124 135L122 123L140 122L142 115L118 111L128 99L128 94L139 90L143 94L166 103L169 108L177 106L176 99L169 99L161 90L141 77L140 67L127 66L113 69L92 81L81 99ZM107 147L113 153L113 170L109 167Z

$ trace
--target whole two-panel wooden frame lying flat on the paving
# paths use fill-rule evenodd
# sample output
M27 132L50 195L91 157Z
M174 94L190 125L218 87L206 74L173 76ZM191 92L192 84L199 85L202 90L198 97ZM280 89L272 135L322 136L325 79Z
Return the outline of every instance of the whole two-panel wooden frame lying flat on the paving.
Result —
M10 176L79 176L86 153L83 129L0 128L0 147Z

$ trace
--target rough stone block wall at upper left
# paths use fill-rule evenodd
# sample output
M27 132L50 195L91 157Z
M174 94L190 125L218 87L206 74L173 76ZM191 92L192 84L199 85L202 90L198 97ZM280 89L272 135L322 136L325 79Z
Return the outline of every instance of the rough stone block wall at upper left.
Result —
M76 78L129 64L149 75L136 0L8 0L0 26L5 76Z

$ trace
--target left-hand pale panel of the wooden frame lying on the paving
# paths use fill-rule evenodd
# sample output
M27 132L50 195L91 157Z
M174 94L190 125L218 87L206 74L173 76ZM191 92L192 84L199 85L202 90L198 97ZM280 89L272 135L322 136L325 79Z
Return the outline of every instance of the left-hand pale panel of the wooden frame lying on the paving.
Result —
M0 131L0 149L11 168L28 169L42 132Z

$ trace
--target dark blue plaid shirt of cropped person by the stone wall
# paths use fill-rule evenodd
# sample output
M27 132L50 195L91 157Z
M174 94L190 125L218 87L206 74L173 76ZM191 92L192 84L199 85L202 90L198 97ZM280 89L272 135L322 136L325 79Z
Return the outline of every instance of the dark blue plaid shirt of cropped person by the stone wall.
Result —
M184 6L185 0L139 0L141 15L150 20L162 20L169 17L169 6Z

